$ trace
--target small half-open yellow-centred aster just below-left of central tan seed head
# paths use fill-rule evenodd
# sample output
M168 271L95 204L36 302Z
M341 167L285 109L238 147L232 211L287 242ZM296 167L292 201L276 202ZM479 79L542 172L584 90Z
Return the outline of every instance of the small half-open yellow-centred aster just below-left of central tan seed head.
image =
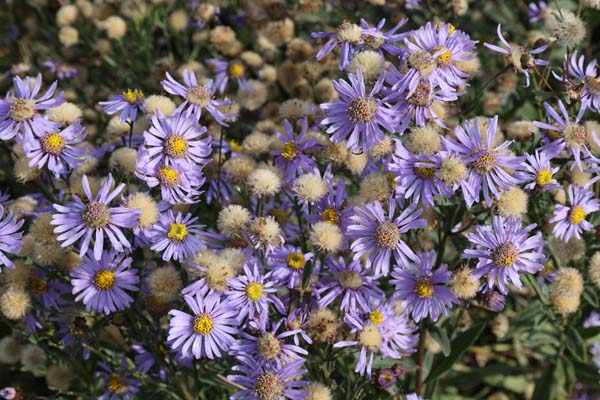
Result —
M304 266L313 258L313 253L303 253L300 247L279 246L270 254L273 278L290 289L302 282Z

